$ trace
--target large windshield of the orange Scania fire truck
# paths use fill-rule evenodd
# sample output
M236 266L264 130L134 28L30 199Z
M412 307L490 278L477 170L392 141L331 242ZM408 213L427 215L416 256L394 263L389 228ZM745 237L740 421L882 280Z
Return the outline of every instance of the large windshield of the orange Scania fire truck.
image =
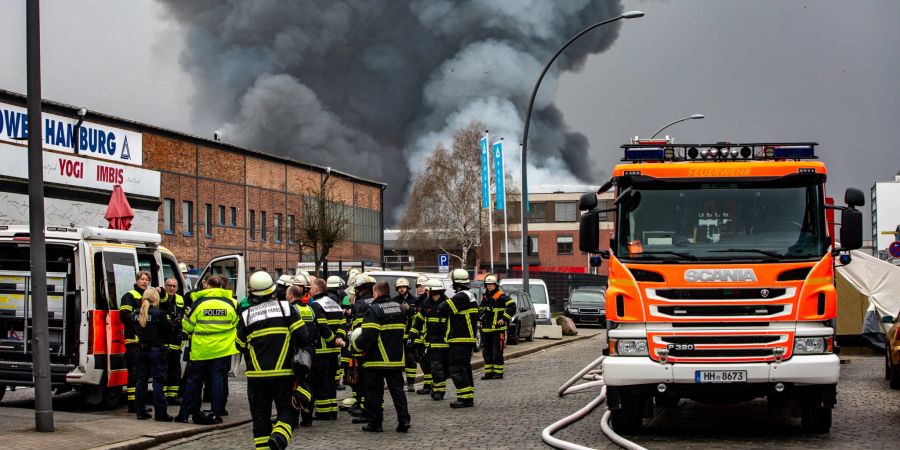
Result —
M624 193L620 259L777 261L826 250L818 184L649 182Z

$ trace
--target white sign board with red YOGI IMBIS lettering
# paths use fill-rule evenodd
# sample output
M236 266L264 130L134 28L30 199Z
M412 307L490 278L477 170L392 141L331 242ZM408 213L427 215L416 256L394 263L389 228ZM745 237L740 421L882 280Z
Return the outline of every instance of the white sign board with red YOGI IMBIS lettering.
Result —
M28 178L28 149L0 143L0 176ZM44 182L159 197L159 172L96 159L44 152Z

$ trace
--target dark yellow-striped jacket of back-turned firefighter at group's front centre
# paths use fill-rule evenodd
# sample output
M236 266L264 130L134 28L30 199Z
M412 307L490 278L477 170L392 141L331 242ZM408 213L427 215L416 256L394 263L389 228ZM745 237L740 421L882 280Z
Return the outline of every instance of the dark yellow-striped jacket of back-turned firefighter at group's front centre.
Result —
M406 366L405 317L400 304L386 295L372 302L362 323L362 334L352 343L357 352L366 352L363 367L400 370Z

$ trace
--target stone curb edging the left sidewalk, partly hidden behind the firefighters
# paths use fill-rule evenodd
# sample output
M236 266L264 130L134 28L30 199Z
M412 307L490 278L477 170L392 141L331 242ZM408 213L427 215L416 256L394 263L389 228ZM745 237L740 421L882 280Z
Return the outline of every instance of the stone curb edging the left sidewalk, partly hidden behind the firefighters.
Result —
M558 347L561 345L571 344L573 342L583 341L585 339L590 339L594 336L598 336L599 334L592 335L578 335L571 337L569 339L561 339L561 340L548 340L546 343L541 343L534 348L528 348L523 350L516 350L512 352L508 352L504 355L506 360L521 358L523 356L531 355L533 353L537 353L542 350L546 350L548 348ZM509 350L509 347L507 347ZM472 369L481 369L484 367L484 361L476 361L472 363ZM416 382L422 382L422 375L416 377ZM102 447L94 447L94 450L143 450L146 448L150 448L156 445L164 444L167 442L176 441L179 439L185 439L192 436L196 436L198 434L209 433L211 431L220 431L227 430L229 428L239 427L241 425L245 425L250 423L250 419L237 420L234 422L225 422L220 423L218 425L196 425L191 428L184 428L178 430L164 431L160 433L148 434L145 436L141 436L135 439L129 439L127 441L117 442L114 444L105 445Z

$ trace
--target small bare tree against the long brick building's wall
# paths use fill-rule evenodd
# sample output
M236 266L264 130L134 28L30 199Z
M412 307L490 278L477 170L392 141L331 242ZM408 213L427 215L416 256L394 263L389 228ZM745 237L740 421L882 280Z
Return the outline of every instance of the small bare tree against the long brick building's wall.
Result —
M319 186L303 199L303 216L294 224L296 250L303 259L303 249L312 252L316 274L338 244L350 238L350 208L339 201L330 174L321 177Z

